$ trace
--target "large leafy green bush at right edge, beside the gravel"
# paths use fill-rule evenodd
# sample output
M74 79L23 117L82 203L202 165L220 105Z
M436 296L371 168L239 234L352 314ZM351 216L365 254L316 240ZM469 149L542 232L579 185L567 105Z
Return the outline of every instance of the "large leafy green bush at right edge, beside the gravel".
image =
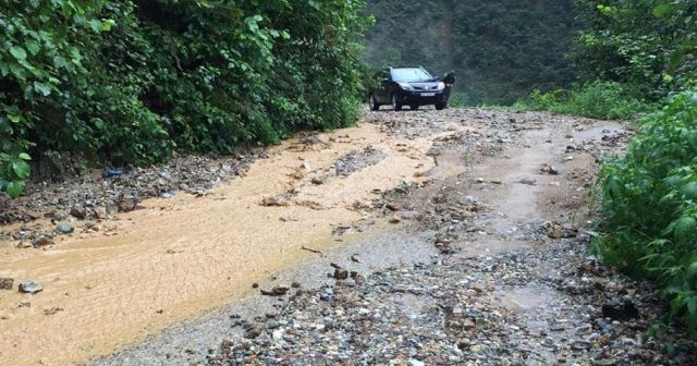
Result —
M697 331L697 90L641 121L623 158L602 169L595 251L656 280L673 315Z

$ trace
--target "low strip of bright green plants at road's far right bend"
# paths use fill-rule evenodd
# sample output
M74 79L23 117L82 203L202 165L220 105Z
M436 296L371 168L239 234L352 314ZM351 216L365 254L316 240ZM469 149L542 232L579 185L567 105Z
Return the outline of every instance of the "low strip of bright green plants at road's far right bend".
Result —
M517 109L548 110L597 119L628 119L648 112L653 105L641 100L634 88L613 82L594 82L571 90L533 91L514 105Z

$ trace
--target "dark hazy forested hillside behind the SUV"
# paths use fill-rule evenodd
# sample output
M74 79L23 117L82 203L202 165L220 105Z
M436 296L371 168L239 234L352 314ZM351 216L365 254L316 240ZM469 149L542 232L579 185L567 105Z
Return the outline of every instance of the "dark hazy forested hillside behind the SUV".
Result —
M571 0L374 0L367 33L375 68L423 65L457 72L463 105L512 103L533 89L566 87L574 80L577 24Z

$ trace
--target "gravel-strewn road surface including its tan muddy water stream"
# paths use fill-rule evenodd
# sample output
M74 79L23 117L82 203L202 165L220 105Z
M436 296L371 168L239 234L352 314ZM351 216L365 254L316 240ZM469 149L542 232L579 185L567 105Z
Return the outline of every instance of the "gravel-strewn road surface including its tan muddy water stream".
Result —
M651 290L586 251L597 160L627 138L546 113L366 112L207 191L8 225L0 278L44 290L0 291L0 364L687 362L643 338ZM57 223L77 230L23 248Z

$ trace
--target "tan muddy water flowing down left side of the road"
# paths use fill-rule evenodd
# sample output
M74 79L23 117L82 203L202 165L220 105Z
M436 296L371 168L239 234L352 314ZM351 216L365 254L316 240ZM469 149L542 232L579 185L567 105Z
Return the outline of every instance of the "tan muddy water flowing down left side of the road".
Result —
M205 197L148 200L147 209L119 217L114 236L70 239L42 252L0 249L0 277L45 286L37 295L0 294L0 364L87 362L231 303L311 256L303 246L331 245L333 228L366 215L356 202L433 166L428 139L387 137L370 124L320 139L326 144L291 141L271 149L245 178ZM311 184L339 157L368 145L386 158ZM285 207L260 205L289 192Z

